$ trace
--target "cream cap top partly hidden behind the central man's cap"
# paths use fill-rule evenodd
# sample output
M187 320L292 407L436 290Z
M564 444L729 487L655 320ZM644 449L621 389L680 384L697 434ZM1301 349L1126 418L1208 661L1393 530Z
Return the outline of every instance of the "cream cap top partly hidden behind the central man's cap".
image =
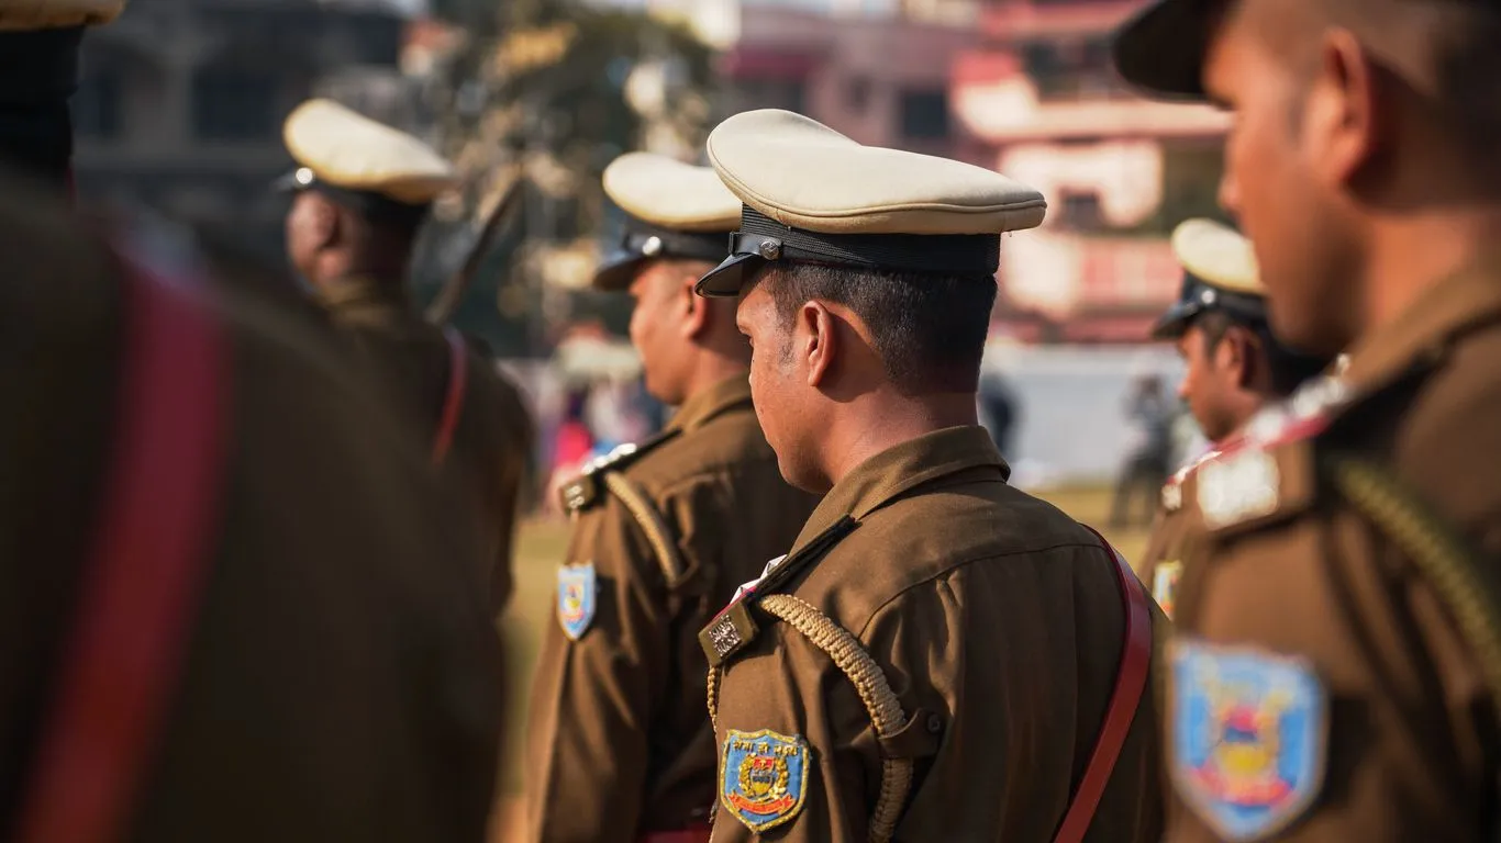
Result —
M719 232L740 225L740 200L708 166L632 152L605 168L603 182L609 201L651 225Z

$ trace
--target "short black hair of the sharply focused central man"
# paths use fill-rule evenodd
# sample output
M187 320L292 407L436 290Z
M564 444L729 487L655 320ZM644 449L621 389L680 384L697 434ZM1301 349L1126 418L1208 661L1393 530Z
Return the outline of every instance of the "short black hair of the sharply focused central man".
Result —
M815 262L758 273L784 322L815 298L854 310L886 376L904 394L976 392L995 276L929 274Z

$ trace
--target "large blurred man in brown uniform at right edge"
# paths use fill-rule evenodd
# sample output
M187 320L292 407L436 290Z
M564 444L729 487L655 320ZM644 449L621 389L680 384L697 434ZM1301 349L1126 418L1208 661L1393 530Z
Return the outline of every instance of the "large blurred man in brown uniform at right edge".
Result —
M1480 0L1168 0L1120 33L1127 80L1234 111L1220 196L1277 336L1349 354L1183 488L1172 842L1498 831L1498 44Z

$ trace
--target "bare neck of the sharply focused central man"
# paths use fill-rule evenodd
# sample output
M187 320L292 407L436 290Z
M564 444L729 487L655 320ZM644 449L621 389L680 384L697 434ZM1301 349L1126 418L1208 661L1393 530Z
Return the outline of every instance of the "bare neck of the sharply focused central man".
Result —
M863 394L842 405L829 426L824 438L826 474L830 484L836 484L884 450L965 424L979 424L973 392L916 398L890 392Z

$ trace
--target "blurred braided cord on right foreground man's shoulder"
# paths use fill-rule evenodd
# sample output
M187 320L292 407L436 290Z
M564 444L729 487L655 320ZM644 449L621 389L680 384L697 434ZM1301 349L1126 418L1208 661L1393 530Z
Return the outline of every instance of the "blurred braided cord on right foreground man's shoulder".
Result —
M1490 704L1501 717L1501 609L1496 606L1501 596L1496 584L1484 574L1480 560L1379 466L1337 454L1322 462L1339 492L1396 542L1453 610L1489 686Z

